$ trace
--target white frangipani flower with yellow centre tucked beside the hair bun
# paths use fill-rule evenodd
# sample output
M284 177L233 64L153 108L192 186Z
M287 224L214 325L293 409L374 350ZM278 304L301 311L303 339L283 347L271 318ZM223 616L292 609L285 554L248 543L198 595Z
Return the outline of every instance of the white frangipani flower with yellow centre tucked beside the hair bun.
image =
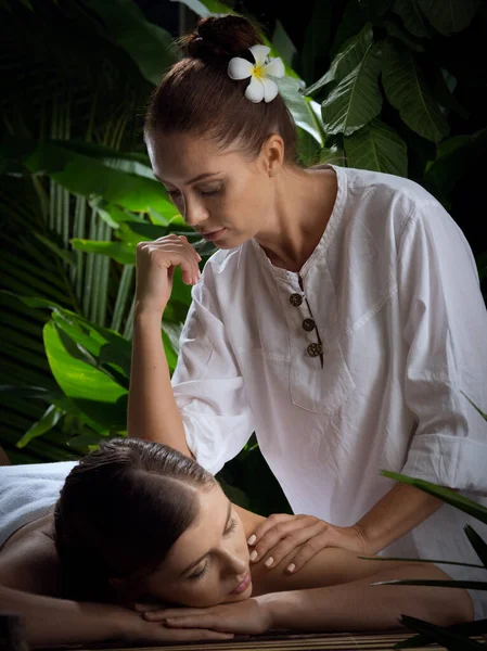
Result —
M253 46L249 48L255 59L255 64L246 59L235 56L228 64L228 74L231 79L246 79L251 84L245 90L245 97L251 102L272 102L279 92L278 85L269 77L284 77L284 64L280 58L268 60L270 48L267 46Z

